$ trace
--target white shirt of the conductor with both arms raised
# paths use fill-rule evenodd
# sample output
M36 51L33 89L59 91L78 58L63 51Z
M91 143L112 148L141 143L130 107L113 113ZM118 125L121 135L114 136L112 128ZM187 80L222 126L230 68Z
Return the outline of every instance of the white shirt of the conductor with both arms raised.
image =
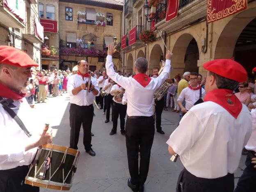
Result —
M113 68L112 56L108 55L106 62L107 75L126 89L129 101L127 104L128 116L150 117L153 115L153 96L155 90L167 79L170 68L171 60L167 59L162 73L157 78L151 78L149 85L143 87L134 78L118 75Z

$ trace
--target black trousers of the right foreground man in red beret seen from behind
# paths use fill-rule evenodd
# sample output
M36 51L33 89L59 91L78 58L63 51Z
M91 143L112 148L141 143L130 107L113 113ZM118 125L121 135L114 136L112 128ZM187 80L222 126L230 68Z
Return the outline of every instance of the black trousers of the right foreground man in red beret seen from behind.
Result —
M182 184L181 184L182 183ZM181 171L176 192L233 192L234 174L207 179L196 177L186 169Z

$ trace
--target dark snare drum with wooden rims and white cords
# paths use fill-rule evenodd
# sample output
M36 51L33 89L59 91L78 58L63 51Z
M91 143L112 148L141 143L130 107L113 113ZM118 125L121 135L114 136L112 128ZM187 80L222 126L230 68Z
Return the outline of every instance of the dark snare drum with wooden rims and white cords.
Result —
M45 144L38 148L25 184L53 190L70 190L80 152L69 147Z

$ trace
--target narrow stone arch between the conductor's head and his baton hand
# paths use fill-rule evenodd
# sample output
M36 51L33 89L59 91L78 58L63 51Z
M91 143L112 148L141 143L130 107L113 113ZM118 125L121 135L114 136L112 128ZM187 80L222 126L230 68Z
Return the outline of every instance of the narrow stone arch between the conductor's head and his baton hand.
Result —
M161 68L162 62L161 60L164 59L162 48L159 44L155 44L153 49L151 50L150 57L149 57L149 74L152 74L152 69L154 67Z

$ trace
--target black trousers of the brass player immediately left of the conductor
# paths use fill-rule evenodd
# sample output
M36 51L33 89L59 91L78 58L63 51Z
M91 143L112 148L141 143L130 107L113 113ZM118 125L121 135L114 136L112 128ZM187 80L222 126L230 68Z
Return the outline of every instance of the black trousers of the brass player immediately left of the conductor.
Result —
M125 117L126 117L126 109L127 105L123 105L121 103L116 103L113 101L113 131L117 131L117 120L120 115L120 129L121 131L124 131L124 126L125 126Z

